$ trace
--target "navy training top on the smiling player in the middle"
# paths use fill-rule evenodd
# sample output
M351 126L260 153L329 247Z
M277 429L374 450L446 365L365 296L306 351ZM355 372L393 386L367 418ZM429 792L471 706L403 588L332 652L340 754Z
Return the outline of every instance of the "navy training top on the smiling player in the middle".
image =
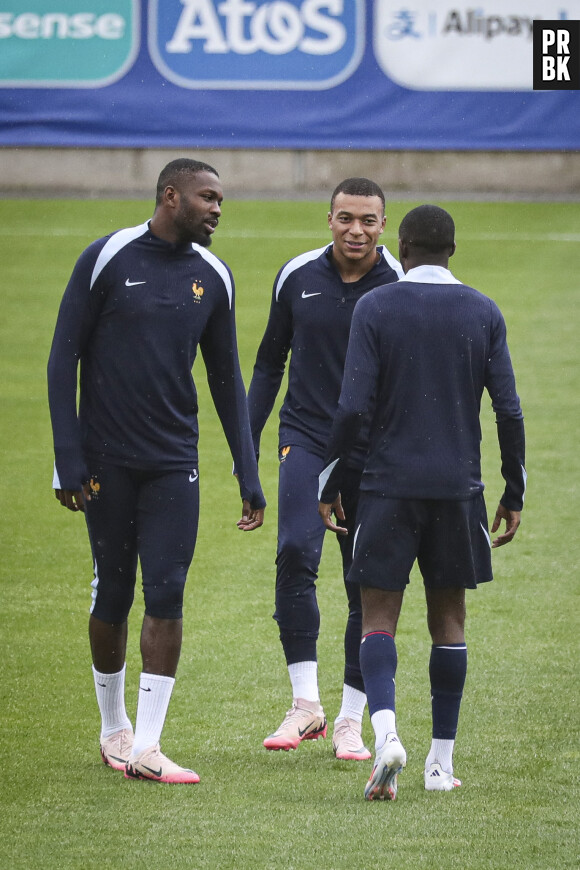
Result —
M352 283L344 282L334 265L332 245L300 254L278 272L248 393L256 451L291 353L279 445L306 447L324 457L340 395L354 306L373 287L403 276L399 262L384 245L377 251L378 262ZM353 464L362 466L364 455L361 436Z

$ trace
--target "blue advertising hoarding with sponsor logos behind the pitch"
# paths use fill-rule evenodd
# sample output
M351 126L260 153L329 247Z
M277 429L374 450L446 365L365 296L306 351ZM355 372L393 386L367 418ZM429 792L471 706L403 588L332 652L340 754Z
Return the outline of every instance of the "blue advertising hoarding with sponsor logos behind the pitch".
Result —
M0 145L577 150L534 2L3 0Z

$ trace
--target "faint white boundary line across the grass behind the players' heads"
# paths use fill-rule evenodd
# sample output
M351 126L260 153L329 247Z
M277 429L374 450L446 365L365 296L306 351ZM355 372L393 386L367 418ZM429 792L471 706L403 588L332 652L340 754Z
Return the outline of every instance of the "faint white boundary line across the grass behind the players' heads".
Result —
M116 228L115 228L116 229ZM98 232L98 230L97 230ZM114 230L110 230L114 232ZM328 232L313 230L306 232L305 230L285 230L278 232L276 230L252 231L240 230L231 231L220 229L219 239L310 239L314 242L316 239L327 239L330 244L331 238ZM103 233L106 235L106 232ZM0 227L0 237L3 238L31 238L40 236L44 238L83 238L88 236L92 241L97 238L94 231L80 229L70 230L66 228L59 229L58 227L38 227L38 229L18 230L11 227ZM460 233L457 235L457 241L461 242L580 242L580 233Z

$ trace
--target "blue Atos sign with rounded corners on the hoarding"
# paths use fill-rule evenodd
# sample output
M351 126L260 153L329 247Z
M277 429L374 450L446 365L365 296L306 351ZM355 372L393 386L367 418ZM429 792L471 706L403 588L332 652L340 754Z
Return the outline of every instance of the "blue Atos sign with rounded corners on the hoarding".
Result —
M149 53L180 87L323 90L364 50L364 0L151 0Z

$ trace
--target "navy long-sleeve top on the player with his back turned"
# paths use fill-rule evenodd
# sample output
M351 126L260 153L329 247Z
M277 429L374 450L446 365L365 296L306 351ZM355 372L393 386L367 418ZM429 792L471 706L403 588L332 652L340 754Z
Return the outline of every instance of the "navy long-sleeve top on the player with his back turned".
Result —
M390 498L467 499L483 491L479 421L484 389L497 421L502 504L521 510L524 424L497 305L449 270L420 266L357 304L338 411L320 475L334 501L372 400L361 490ZM375 397L375 398L373 398Z

